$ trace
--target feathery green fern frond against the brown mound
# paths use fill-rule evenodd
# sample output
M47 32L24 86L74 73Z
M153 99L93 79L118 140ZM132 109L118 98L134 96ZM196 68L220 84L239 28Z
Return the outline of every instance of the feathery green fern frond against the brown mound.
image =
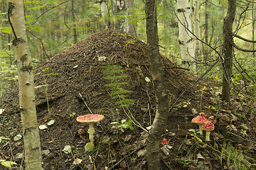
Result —
M105 86L110 87L110 96L117 100L115 104L119 107L129 107L130 104L134 102L134 100L129 99L129 94L132 94L133 91L124 89L124 86L129 85L129 82L124 79L129 76L122 74L124 69L121 69L119 65L108 64L103 68L104 74L107 75L104 79L110 81L110 83L105 84Z

